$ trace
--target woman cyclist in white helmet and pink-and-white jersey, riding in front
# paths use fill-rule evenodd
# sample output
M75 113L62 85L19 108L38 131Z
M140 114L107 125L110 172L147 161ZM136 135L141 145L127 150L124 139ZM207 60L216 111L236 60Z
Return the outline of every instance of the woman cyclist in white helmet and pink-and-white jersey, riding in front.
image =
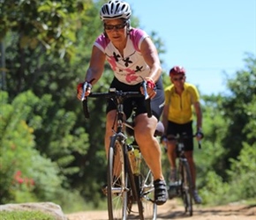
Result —
M167 201L166 183L162 175L161 148L154 137L154 130L162 114L164 90L162 86L162 68L153 41L144 31L130 24L130 5L111 0L102 5L100 17L104 32L98 36L92 49L91 61L85 81L94 85L104 70L105 61L113 70L113 80L109 87L125 91L141 91L141 82L147 81L147 92L151 99L153 116L147 117L144 98L129 98L124 101L124 114L128 119L132 114L132 103L136 103L134 135L147 165L154 175L154 201L162 205ZM88 86L86 96L91 92ZM78 86L78 99L82 88ZM105 132L105 150L109 152L109 136L112 136L112 124L117 114L112 100L107 105Z

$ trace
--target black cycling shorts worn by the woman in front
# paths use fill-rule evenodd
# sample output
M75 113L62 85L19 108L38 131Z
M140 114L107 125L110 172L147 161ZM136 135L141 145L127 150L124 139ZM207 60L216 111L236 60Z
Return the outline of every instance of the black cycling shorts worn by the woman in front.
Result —
M155 83L155 86L156 95L154 96L154 99L151 99L151 110L152 114L159 121L164 105L164 90L162 86L162 77L160 77L159 80ZM116 88L117 91L123 92L140 92L140 84L124 84L118 81L116 77L114 77L112 83L110 84L110 88ZM124 100L124 114L126 116L126 119L131 116L132 110L134 108L136 108L135 116L147 113L144 97L128 98ZM109 113L109 111L114 109L117 109L117 106L113 102L113 100L109 99L106 113Z

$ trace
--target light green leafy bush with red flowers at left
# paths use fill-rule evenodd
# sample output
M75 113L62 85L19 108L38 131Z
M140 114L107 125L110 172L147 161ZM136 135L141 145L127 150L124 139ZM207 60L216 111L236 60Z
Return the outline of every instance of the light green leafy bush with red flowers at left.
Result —
M10 105L7 93L0 95L0 203L51 201L63 178L56 163L34 148L34 129L25 121L31 112L27 102L38 98L24 92L13 100L16 105Z

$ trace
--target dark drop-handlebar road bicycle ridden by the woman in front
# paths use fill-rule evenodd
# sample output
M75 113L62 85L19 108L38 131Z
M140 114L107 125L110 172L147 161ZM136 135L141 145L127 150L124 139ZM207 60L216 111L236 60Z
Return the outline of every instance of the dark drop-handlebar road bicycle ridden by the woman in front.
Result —
M151 117L150 99L147 95L146 84L144 83L142 86L147 103L147 116ZM132 167L127 154L129 144L126 143L127 136L124 134L124 125L133 128L130 122L124 121L124 99L129 97L143 97L143 95L140 92L122 92L116 89L109 89L109 92L92 92L89 97L102 97L113 99L117 102L117 129L114 130L114 135L110 136L108 157L108 187L106 191L108 196L109 219L126 219L128 215L134 213L132 210L132 204L134 202L138 204L136 213L139 213L140 219L144 219L145 206L143 206L143 200L152 203L154 214L151 219L156 219L156 205L153 199L148 199L149 197L147 196L147 194L154 191L154 186L148 184L147 189L145 188L147 181L152 177L152 173L147 171L147 180L144 177L142 178L141 173L138 176L132 173ZM89 118L87 99L83 100L83 109L85 117Z

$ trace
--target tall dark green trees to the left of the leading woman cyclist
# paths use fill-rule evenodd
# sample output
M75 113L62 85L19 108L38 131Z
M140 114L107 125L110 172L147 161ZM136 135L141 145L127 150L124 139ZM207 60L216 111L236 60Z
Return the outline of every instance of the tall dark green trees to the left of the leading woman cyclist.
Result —
M0 1L9 103L14 105L11 100L28 91L39 98L36 104L26 102L32 106L24 118L34 129L34 150L58 166L62 187L78 189L95 205L106 181L105 101L89 102L91 118L86 121L76 99L76 85L83 81L92 45L102 33L102 3L105 1ZM139 26L137 18L132 18L132 26ZM152 37L159 53L164 53L162 40L155 33ZM111 76L106 64L94 92L107 91Z

